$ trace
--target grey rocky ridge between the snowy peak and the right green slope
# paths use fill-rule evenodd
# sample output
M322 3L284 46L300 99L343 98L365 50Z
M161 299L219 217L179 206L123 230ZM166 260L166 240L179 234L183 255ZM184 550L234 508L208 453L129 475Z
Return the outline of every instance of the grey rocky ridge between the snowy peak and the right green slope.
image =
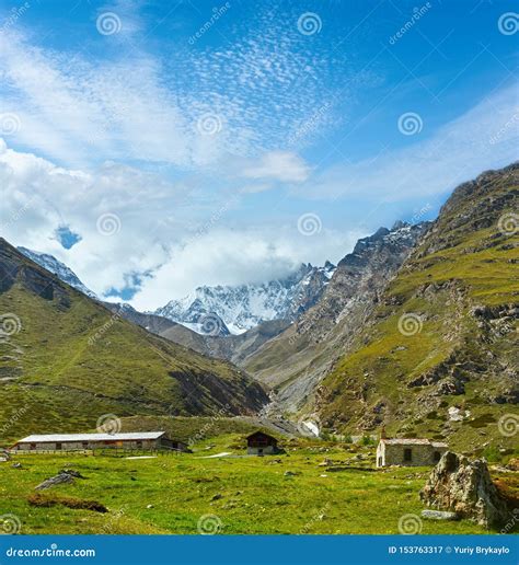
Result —
M339 264L321 300L267 342L245 368L276 388L273 411L297 412L376 307L380 295L427 224L397 223L359 240Z

